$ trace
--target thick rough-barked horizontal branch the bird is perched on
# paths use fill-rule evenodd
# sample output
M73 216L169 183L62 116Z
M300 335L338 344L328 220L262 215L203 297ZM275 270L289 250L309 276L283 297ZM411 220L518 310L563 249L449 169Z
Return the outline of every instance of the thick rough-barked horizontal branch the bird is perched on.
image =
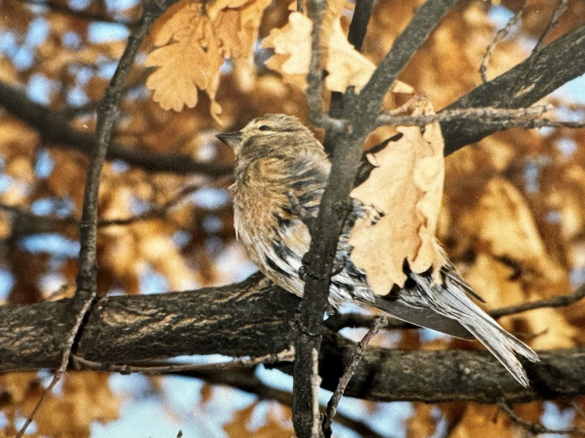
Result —
M219 288L104 298L90 312L75 354L100 363L131 364L183 354L242 357L281 352L296 336L290 322L300 300L261 279L256 274ZM0 307L0 372L59 367L71 325L68 301ZM322 387L335 389L355 346L325 331ZM539 355L541 363L524 363L532 388L522 388L488 352L369 347L345 395L372 401L487 404L585 395L585 347ZM292 372L291 366L279 368Z

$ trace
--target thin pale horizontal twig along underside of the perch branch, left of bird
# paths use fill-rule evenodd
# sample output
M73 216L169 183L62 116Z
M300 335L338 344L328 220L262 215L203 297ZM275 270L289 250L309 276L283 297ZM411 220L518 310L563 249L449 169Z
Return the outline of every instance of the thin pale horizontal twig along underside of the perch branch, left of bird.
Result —
M217 363L167 363L153 366L116 365L95 362L84 359L80 356L71 357L76 370L90 369L99 371L114 371L121 374L142 373L142 374L168 374L182 373L185 371L217 371L236 368L252 368L263 363L292 362L294 360L294 348L289 348L276 354L266 354L250 359L234 359Z

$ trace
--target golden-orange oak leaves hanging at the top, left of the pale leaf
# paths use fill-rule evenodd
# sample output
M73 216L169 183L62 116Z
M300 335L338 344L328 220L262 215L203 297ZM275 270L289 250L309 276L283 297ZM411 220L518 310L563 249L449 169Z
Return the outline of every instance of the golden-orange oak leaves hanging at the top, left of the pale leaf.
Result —
M146 81L163 109L195 107L198 91L208 93L211 114L222 108L215 100L226 58L252 56L260 19L269 0L221 0L206 4L183 1L171 6L153 27L155 48L146 67L157 67ZM219 120L218 120L219 121Z

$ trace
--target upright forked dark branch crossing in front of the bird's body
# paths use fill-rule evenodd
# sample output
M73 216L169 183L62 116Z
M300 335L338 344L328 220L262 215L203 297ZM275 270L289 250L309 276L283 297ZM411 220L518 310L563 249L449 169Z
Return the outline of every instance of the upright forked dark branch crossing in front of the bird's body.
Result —
M313 427L315 421L319 420L315 418L315 412L318 411L314 409L318 388L314 386L313 358L321 349L323 314L329 296L333 259L343 224L352 208L349 193L357 175L363 141L376 127L376 116L380 112L381 102L394 79L456 1L427 0L395 41L386 58L378 65L362 92L356 96L352 89L348 89L345 93L348 106L343 113L351 123L338 123L340 126L329 123L328 127L339 129L339 141L336 141L333 151L331 173L319 207L316 226L310 230L311 247L303 258L306 265L305 288L298 319L299 333L295 342L292 402L292 423L299 437L319 436ZM318 20L313 22L311 45L318 52L311 54L311 71L307 75L309 82L307 100L314 123L319 118L340 122L335 119L328 120L322 112L321 78L318 76L320 72L315 71L319 65L319 26L324 6L325 0L311 0L308 4L309 16ZM315 81L318 87L312 87L311 81ZM315 95L315 92L318 92L318 95ZM314 105L317 99L318 106Z

